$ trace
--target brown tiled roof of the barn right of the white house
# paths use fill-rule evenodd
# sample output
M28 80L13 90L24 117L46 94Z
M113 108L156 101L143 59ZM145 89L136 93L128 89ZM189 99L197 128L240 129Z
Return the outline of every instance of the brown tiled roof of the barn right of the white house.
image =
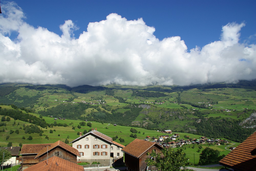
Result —
M144 154L148 149L153 147L154 145L158 146L160 149L163 149L160 145L155 142L149 142L145 140L135 139L130 144L126 145L122 152L130 154L136 158L139 158L142 154Z

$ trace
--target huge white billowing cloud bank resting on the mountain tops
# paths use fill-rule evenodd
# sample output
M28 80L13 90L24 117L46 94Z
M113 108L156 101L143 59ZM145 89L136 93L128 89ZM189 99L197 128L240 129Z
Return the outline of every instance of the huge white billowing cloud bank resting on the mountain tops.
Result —
M59 36L26 23L17 4L1 5L0 83L145 86L256 78L256 45L239 43L244 23L223 26L219 41L189 51L179 36L157 39L142 18L109 14L76 39L71 20Z

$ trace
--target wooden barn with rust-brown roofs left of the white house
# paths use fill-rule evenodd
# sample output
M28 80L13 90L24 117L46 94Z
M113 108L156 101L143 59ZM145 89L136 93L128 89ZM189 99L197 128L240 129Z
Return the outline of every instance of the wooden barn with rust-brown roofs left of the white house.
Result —
M72 163L77 163L77 156L80 157L76 149L62 141L50 144L24 144L20 152L23 169L46 160L47 153L48 158L58 156Z

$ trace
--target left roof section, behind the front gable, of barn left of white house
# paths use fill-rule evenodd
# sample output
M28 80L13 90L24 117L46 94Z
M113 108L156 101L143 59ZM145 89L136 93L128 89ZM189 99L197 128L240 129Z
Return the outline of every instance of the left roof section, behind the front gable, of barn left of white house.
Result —
M22 154L37 154L42 149L46 147L46 145L51 145L52 143L48 144L24 144L21 148L20 155Z

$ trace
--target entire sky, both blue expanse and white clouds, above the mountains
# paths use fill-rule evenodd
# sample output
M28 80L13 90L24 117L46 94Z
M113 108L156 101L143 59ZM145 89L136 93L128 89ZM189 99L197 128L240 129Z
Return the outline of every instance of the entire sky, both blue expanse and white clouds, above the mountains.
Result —
M1 0L0 83L256 78L256 1Z

